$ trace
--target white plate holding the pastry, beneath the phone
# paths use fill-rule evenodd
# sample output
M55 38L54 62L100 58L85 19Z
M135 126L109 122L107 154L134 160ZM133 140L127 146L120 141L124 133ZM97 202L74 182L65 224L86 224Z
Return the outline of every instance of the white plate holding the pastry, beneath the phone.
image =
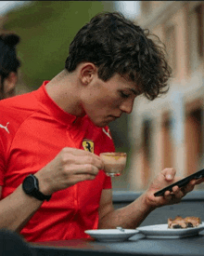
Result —
M198 227L189 227L184 229L171 229L168 228L168 224L159 224L138 227L136 230L148 238L182 238L185 236L196 236L203 229L204 222L202 222Z

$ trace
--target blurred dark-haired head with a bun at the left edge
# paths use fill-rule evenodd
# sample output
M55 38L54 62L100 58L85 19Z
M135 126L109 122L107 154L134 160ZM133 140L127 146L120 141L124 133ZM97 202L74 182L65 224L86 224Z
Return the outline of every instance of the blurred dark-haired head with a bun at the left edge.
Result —
M17 34L0 34L0 100L15 95L20 65L16 55Z

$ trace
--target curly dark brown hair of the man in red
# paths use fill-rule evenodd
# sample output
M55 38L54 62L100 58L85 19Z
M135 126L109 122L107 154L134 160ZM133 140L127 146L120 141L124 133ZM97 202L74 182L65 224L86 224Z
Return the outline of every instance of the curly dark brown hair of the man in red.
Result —
M157 39L157 43L151 37ZM65 68L72 72L80 62L93 62L103 81L113 74L128 76L152 101L169 89L172 69L165 55L165 46L157 35L135 25L119 12L104 12L75 35Z

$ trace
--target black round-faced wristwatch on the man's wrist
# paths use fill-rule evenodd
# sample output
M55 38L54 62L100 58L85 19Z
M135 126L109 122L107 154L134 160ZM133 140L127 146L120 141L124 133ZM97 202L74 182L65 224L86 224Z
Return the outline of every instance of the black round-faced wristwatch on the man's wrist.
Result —
M32 174L30 174L24 179L24 181L22 182L22 189L27 195L32 195L41 201L49 201L49 199L52 196L44 195L39 191L38 179Z

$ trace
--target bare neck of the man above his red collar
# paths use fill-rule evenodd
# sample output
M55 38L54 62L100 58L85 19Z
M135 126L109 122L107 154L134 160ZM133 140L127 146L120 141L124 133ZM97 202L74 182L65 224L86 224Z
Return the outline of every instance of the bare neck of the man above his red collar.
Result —
M64 70L57 74L45 88L49 97L65 112L70 115L84 115L80 102L80 88L74 74Z

